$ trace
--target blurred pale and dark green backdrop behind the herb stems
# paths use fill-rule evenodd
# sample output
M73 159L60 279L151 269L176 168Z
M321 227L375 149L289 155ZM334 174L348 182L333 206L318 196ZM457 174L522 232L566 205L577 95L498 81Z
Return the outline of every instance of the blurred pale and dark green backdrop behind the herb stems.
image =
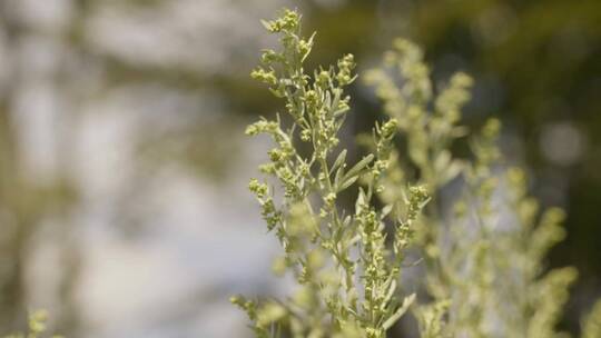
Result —
M318 31L309 64L361 73L403 36L436 82L474 76L467 125L500 117L569 212L549 265L581 272L577 332L601 296L600 1L0 0L0 335L46 308L68 337L249 337L228 297L285 289L246 189L269 145L243 135L280 109L248 73L285 6ZM352 91L365 130L377 102Z

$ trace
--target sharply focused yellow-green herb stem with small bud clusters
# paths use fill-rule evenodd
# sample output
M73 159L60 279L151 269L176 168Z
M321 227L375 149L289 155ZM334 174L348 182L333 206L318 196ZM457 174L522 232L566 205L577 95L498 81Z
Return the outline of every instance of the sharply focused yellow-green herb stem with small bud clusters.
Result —
M282 50L265 50L262 66L252 73L284 100L290 123L279 117L260 119L246 130L250 136L268 135L276 145L268 152L270 161L260 167L276 187L254 179L249 188L285 251L276 270L290 271L298 291L289 300L231 301L246 310L257 337L382 338L415 298L400 296L397 282L412 225L428 196L423 187L410 187L402 202L376 207L398 122L376 125L374 151L347 165L337 133L349 110L344 88L356 78L353 56L307 74L303 62L315 34L304 38L299 19L286 10L263 22L279 37ZM357 190L354 209L337 202L347 189ZM393 238L387 239L388 233Z

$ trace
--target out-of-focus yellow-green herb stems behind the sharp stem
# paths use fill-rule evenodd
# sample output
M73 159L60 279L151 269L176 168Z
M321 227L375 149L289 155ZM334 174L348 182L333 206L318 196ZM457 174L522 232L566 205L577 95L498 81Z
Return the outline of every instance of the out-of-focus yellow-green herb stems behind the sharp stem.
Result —
M397 132L407 143L400 153L407 156L393 151L393 166L382 178L387 189L380 197L392 205L402 200L402 182L410 179L428 187L433 199L416 227L424 285L433 298L414 307L421 337L563 337L555 326L577 271L545 274L543 265L548 250L564 237L563 211L539 211L523 171L503 169L497 120L469 138L472 161L452 156L453 140L466 133L460 120L471 78L456 73L434 96L423 52L401 39L384 64L370 71L366 82L376 88L386 115L398 121ZM454 215L444 217L436 208L439 193L459 176L463 193L454 201ZM583 325L584 337L599 336L599 307Z

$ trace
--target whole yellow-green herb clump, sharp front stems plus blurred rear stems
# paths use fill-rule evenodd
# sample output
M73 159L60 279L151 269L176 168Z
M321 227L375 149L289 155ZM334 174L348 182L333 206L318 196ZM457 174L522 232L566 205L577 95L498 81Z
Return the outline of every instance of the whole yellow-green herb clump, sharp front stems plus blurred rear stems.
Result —
M263 22L282 49L264 50L252 73L284 100L286 116L247 128L276 145L260 166L272 181L253 179L249 188L285 251L276 271L298 285L286 300L231 299L256 336L385 337L411 308L420 337L563 337L555 327L577 271L544 266L564 237L563 212L539 211L523 170L503 163L499 120L473 135L461 125L472 79L459 72L435 95L421 49L396 40L384 67L365 76L388 120L362 141L371 153L347 169L337 135L349 110L344 88L356 78L353 57L307 74L315 34L304 38L299 20L286 10ZM395 135L406 148L395 146ZM453 156L459 138L471 158ZM447 212L441 192L457 180ZM338 202L347 189L357 191L354 208ZM424 259L411 286L430 299L420 304L400 287L408 249ZM601 302L582 331L601 337Z

